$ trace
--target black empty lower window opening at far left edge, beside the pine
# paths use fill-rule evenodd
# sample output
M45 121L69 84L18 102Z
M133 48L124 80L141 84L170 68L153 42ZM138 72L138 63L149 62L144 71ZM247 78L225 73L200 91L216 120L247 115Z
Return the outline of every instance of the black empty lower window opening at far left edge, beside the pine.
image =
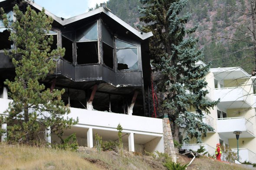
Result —
M0 28L0 50L12 49L13 42L9 41L10 32L7 29Z

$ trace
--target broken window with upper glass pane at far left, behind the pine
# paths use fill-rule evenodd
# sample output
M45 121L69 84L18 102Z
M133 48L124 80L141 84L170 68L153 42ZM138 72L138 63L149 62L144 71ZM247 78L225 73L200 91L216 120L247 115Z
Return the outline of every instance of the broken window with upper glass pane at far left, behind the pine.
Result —
M8 26L11 26L11 22L13 21L13 11L7 12L7 18L9 20ZM0 50L3 49L12 49L13 42L9 41L10 32L3 24L3 20L0 20Z

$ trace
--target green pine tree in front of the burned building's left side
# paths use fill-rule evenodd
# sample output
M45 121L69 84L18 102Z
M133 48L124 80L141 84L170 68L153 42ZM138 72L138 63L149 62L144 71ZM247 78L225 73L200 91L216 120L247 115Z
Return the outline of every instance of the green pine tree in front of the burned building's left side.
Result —
M9 115L3 119L7 123L7 141L29 143L46 128L51 128L51 133L63 141L63 129L75 125L77 120L64 118L70 112L61 100L64 90L46 89L41 82L53 71L53 58L63 56L65 49L50 50L53 37L46 33L53 19L46 16L44 9L36 13L24 1L20 6L25 6L26 10L21 11L18 5L13 7L16 21L9 29L9 39L15 48L5 51L12 58L16 73L13 81L4 82L13 99L6 111ZM2 17L8 26L7 15Z

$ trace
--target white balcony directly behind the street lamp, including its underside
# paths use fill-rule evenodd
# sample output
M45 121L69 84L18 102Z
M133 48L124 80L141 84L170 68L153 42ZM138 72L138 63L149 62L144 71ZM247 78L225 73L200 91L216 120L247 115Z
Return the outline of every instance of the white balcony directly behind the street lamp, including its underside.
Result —
M220 118L217 120L217 132L226 138L233 139L234 131L241 131L240 138L254 138L253 123L244 117Z

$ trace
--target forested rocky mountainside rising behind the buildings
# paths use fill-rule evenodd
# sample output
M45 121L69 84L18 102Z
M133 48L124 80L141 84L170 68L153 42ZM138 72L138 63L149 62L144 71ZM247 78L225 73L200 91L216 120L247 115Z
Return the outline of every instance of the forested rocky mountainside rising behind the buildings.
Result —
M119 18L137 29L140 13L139 0L109 0L107 7ZM198 48L203 48L204 62L211 61L211 67L243 67L251 73L255 70L254 53L246 50L252 46L250 35L246 33L251 27L248 13L249 0L188 0L183 13L191 13L187 27L198 26L195 37L199 38ZM246 32L244 31L246 30ZM243 39L231 41L226 38Z

